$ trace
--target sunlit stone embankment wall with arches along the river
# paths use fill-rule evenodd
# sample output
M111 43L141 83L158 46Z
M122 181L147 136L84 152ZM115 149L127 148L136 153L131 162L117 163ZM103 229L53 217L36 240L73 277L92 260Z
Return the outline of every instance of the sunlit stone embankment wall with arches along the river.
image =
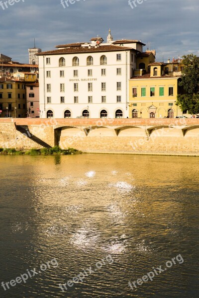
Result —
M40 145L16 125L50 146L85 152L199 156L199 119L0 119L0 147ZM27 132L28 133L28 132Z

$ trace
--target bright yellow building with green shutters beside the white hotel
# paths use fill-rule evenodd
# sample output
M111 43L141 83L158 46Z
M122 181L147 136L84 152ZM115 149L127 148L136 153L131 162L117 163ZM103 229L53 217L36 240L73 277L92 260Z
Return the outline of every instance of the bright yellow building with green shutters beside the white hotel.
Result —
M183 115L175 102L179 78L166 75L162 62L148 65L147 74L129 80L129 118L175 118Z

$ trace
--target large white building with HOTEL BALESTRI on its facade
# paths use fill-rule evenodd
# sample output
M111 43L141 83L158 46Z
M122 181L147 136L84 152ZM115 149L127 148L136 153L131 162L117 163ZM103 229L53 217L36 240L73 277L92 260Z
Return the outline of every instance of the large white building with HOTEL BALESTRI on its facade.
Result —
M138 40L56 46L39 57L40 110L42 118L126 118L128 80L142 52Z

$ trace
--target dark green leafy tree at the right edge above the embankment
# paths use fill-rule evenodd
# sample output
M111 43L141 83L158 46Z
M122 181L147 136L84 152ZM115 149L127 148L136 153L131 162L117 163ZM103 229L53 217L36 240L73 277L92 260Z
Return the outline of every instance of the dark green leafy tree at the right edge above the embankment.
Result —
M177 96L177 105L190 114L199 113L199 57L194 54L183 56L184 68L179 83L185 94Z

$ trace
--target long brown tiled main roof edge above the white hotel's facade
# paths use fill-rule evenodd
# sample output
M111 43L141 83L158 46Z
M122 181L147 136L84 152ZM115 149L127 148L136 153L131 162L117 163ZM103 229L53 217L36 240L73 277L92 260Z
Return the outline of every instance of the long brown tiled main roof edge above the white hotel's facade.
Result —
M124 50L134 50L135 49L129 48L129 47L118 47L114 45L101 45L99 47L72 47L72 48L64 48L60 50L54 50L54 51L47 51L47 52L41 52L36 55L42 56L42 55L60 55L60 54L77 54L77 53L95 53L95 52L112 52L112 51L124 51Z

